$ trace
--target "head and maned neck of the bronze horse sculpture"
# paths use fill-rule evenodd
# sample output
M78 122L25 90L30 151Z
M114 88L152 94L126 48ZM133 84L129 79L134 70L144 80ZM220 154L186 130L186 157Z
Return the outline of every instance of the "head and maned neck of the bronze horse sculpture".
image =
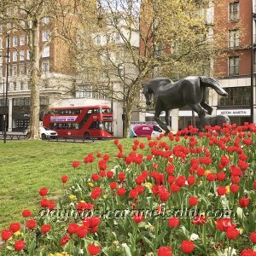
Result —
M152 94L155 94L155 91L164 84L172 84L171 79L166 78L157 78L151 79L150 81L143 83L143 95L146 98L146 104L149 106L151 104Z

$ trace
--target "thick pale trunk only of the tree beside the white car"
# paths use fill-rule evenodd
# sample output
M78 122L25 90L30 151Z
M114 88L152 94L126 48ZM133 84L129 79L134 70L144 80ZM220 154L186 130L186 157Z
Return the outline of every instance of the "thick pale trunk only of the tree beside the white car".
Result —
M40 50L39 50L39 21L33 20L33 28L31 31L31 113L30 113L30 129L29 138L33 140L40 139L39 132L39 113L40 113L40 91L39 91L39 79L40 79Z

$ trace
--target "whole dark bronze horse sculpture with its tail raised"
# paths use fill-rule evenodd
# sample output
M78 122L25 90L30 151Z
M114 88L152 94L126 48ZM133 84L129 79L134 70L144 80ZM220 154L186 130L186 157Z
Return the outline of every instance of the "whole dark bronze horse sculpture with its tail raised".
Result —
M228 96L228 93L220 87L218 80L202 76L186 77L175 83L166 78L151 79L143 84L143 95L146 98L147 105L150 105L154 94L154 120L165 131L171 131L171 110L183 108L186 105L198 114L201 125L204 127L204 125L208 125L207 113L212 114L212 107L205 102L207 87L215 90L220 96ZM162 111L166 112L166 124L160 120Z

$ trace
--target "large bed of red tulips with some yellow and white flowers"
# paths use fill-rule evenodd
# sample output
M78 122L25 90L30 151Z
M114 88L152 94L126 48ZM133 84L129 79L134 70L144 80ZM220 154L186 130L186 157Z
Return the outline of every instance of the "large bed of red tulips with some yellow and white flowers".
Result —
M74 161L59 201L39 189L42 210L2 230L1 253L256 255L256 126L206 129L134 140L131 152L114 140L114 166L101 153Z

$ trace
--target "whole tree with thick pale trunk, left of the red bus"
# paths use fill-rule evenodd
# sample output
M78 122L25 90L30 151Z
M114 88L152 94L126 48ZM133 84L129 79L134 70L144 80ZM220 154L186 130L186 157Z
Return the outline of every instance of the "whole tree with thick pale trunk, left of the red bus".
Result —
M68 4L74 6L76 1ZM55 15L56 9L60 8L61 1L54 0L3 0L1 4L1 26L3 33L10 36L19 32L25 32L27 38L27 49L29 52L31 84L31 114L28 137L40 139L39 113L40 113L40 79L42 69L40 60L45 47L51 40L57 37ZM67 5L66 5L67 8ZM40 40L41 28L44 26L46 34L42 43ZM64 47L64 46L62 46ZM71 90L70 88L68 90Z

